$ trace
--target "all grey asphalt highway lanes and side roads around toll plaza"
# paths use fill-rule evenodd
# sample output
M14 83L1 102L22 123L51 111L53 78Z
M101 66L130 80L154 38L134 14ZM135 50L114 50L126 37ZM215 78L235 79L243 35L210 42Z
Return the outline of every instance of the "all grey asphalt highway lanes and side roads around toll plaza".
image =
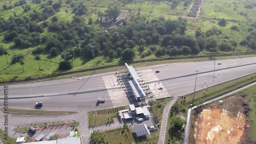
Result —
M249 58L243 58L243 59L221 60L222 65L217 65L218 62L219 61L216 61L216 69L255 63L256 58L249 57ZM155 67L157 66L158 65L156 65ZM155 70L160 70L160 73L155 75L157 76L158 79L161 80L161 79L173 78L173 77L178 77L183 75L195 74L196 73L195 70L197 69L200 70L201 72L213 70L214 61L162 64L162 67L157 67L157 68L152 68L152 66L147 66L147 67L151 68L152 73L154 74L155 74ZM146 67L143 67L143 68L146 68ZM138 69L138 68L135 68L135 69ZM214 76L213 72L200 74L198 75L196 90L206 88L205 83L207 83L208 86L211 86L211 85L228 81L230 79L234 79L237 77L241 77L243 75L253 73L255 71L256 71L256 66L255 64L253 64L248 66L216 71L215 73L216 78L212 78ZM137 72L139 73L139 70ZM62 80L37 82L37 83L29 83L29 84L8 85L8 88L9 88L8 96L9 98L12 98L12 97L24 97L24 96L31 96L31 95L65 94L65 93L77 92L77 91L105 89L106 86L100 75L102 74L94 75L93 78L83 79L83 80L78 80L79 78L76 78L76 79L62 79ZM167 81L161 81L161 83L163 84L164 88L168 91L170 95L177 96L180 94L187 94L187 93L193 92L195 79L196 79L196 75L167 80ZM3 86L1 86L0 89L2 92ZM104 104L97 104L96 103L97 98L105 99L106 102ZM84 124L81 128L81 131L86 131L86 132L88 132L88 128L86 125L87 118L85 117L86 111L114 107L108 91L98 91L98 92L82 93L82 94L76 94L76 95L59 95L54 97L43 97L43 98L10 99L9 107L31 109L31 108L34 108L35 103L38 101L44 102L44 106L42 107L42 109L82 111L79 113L79 115L83 115L83 116L80 116L81 118L79 118L79 121L81 121L81 123ZM3 105L4 105L3 100L0 100L0 107L3 107ZM172 102L169 103L169 106L172 106L172 105L173 105ZM164 115L166 114L168 115L168 111L169 110L166 109ZM70 116L74 117L74 115L70 115ZM46 119L48 119L48 115L44 115L42 117L40 118L30 117L30 120L28 121L31 121L31 122L36 121L37 123L40 123L39 121L41 121L42 123L44 123ZM1 122L4 121L2 118L1 118ZM66 120L70 119L68 116L66 117L61 115L59 115L57 119L61 119L61 118ZM13 123L14 125L18 122L18 118L15 118L15 119L16 120L11 120L11 123ZM20 119L26 119L26 118L21 117ZM20 126L22 126L23 123L25 124L24 121L25 120L20 121L21 123ZM53 122L54 118L49 118L49 121ZM166 121L166 124L168 124L168 121ZM167 133L167 130L165 131ZM160 134L162 135L163 132L161 131Z

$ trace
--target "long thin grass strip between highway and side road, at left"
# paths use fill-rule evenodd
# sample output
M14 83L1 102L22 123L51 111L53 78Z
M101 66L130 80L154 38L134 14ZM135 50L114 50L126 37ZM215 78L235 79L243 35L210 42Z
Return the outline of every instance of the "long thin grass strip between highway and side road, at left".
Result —
M33 109L14 109L14 108L8 108L7 111L5 111L3 108L1 108L4 112L9 112L12 114L75 114L78 113L77 111L51 111L51 110L33 110Z

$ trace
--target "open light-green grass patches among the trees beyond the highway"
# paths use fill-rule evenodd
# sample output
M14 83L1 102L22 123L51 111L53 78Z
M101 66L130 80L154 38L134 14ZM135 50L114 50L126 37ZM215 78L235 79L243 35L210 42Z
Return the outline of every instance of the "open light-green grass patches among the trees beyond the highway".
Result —
M15 1L10 1L10 2L11 3L9 4L9 2L7 2L7 1L0 1L0 4L6 4L9 6L9 5L14 5L14 3L15 3ZM54 2L57 2L57 1L55 0ZM79 1L76 1L76 2L79 2ZM80 2L85 3L87 6L94 6L95 4L97 4L97 5L99 5L98 7L105 7L105 8L108 7L110 4L114 3L114 1L98 1L98 0L96 0L96 1L80 1ZM208 2L208 0L206 0L204 7L207 8L208 5L211 5L211 3L209 3L209 2ZM30 11L32 11L32 10L41 11L40 5L30 3L30 1L28 1L28 3L31 5ZM72 16L74 16L74 14L72 13L72 8L70 7L70 5L66 5L65 2L62 2L62 3L63 3L63 5L61 5L59 12L56 12L54 14L54 16L57 16L59 18L59 21L60 20L63 20L63 21L71 20ZM154 2L153 3L153 1L149 1L149 2L134 1L134 4L126 4L124 6L119 3L120 2L115 2L115 4L120 6L120 8L122 8L122 9L132 9L132 10L137 11L138 7L140 7L141 12L142 12L141 15L144 15L145 17L147 17L148 20L150 20L154 17L161 16L159 14L186 13L187 9L188 9L188 8L186 8L186 9L183 8L183 2L181 2L178 5L178 7L174 10L170 9L170 5L172 3L169 3L169 2ZM136 3L136 5L135 5L135 3ZM216 3L216 2L214 2L214 3ZM229 2L225 2L225 3L229 3ZM152 10L152 8L153 8L153 10ZM68 15L65 12L66 9L69 11ZM28 13L24 13L23 8L21 6L19 6L19 7L12 8L10 10L2 11L0 13L0 16L4 17L5 19L8 19L10 15L13 15L14 11L18 16L19 15L20 16L28 15ZM97 15L95 13L97 13L97 11L99 11L99 10L97 10L96 8L89 7L88 13L86 15L82 15L82 17L87 17L87 18L92 17L94 20L96 20ZM104 10L101 9L101 11L104 11ZM153 11L153 13L148 13L151 11ZM159 14L154 14L154 13L159 13ZM134 12L134 14L136 14L136 12ZM173 16L168 16L168 15L162 15L162 16L164 16L165 18L171 18L171 19L177 18L177 17L173 17ZM48 21L50 21L51 17L48 18ZM195 28L197 28L197 27L201 27L202 31L205 32L206 30L210 29L211 26L215 26L216 28L222 30L223 35L227 35L229 37L229 39L233 39L233 40L237 41L237 43L239 43L247 35L248 25L246 22L236 23L236 22L228 21L226 27L219 27L218 20L190 19L188 21L189 21L188 22L189 26L188 26L188 31L186 33L189 35L195 35ZM239 32L231 31L230 27L233 25L239 26L240 31ZM100 29L98 26L99 26L99 23L92 27L95 27L96 29ZM46 35L46 34L48 34L47 29L45 29L45 32L42 33L42 35ZM17 49L17 47L16 48L12 47L14 44L13 42L10 42L10 43L3 42L3 33L0 34L0 44L4 45L7 48L9 47L9 55L7 55L9 64L7 64L7 62L6 62L5 55L0 57L0 61L1 61L1 63L0 63L0 81L15 81L15 80L34 79L34 78L38 78L38 77L47 77L47 76L50 76L53 74L59 74L59 73L65 73L65 72L70 72L70 71L77 71L77 70L93 68L93 59L76 58L73 61L74 68L72 68L71 70L62 71L62 70L58 69L58 63L62 60L61 57L60 56L50 57L48 53L44 53L44 54L40 55L41 60L39 61L39 63L40 63L40 67L42 70L39 71L38 63L37 63L37 61L34 60L34 56L31 54L31 52L34 50L34 47L30 47L29 49ZM243 47L240 45L235 47L235 49L237 52L251 51L250 49L248 49L248 47ZM149 59L162 59L162 58L168 57L167 55L161 56L161 57L156 57L153 54L151 56L141 58L139 56L137 47L134 48L134 51L136 52L136 57L135 57L134 61L149 60ZM24 72L23 72L22 65L20 65L18 63L10 65L11 57L14 54L19 54L19 53L26 55L25 59L24 59L24 63L25 63L24 64L24 70L25 70ZM227 52L227 53L231 53L231 52ZM202 51L199 54L199 56L207 55L207 54L209 54L209 53ZM123 61L120 58L113 59L113 60L109 60L108 58L104 58L103 56L99 56L99 57L95 58L96 67L116 65L116 64L120 64L120 63L123 63ZM106 70L106 71L108 71L108 70ZM69 77L69 76L66 76L66 77Z

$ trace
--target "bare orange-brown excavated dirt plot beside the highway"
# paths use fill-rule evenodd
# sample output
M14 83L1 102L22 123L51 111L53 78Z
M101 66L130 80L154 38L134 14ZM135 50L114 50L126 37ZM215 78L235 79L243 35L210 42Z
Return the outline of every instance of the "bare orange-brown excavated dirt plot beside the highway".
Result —
M195 143L251 143L246 94L237 94L197 110Z

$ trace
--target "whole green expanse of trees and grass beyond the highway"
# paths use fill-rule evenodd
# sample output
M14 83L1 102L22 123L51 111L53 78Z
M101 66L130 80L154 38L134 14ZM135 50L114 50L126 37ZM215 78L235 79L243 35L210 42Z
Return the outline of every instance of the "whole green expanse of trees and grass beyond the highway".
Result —
M0 2L3 4L0 81L30 80L90 69L94 66L93 58L95 66L102 67L255 50L256 26L252 18L245 19L248 24L226 18L188 19L184 15L191 3L189 0ZM158 14L162 12L185 18ZM114 27L117 17L123 18L122 26ZM108 28L111 30L102 31Z

